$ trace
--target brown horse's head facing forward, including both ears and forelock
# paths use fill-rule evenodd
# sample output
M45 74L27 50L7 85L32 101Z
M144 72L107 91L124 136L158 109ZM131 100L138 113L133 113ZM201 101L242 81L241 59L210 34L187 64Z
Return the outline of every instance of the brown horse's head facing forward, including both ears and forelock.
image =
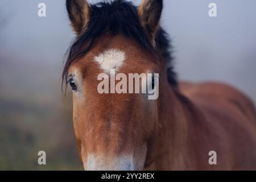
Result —
M76 44L88 39L86 35L94 36L101 31L97 22L101 22L102 28L107 27L110 31L115 30L113 26L116 22L119 31L130 35L128 30L123 29L127 26L126 22L133 19L135 23L131 31L139 32L139 28L143 27L143 32L154 44L162 1L143 1L138 13L134 13L135 6L122 1L107 6L93 6L91 11L85 0L68 0L67 9L73 29L78 35ZM104 21L98 19L105 15L111 18ZM138 16L138 20L135 16ZM112 27L108 27L108 21ZM88 34L82 37L86 31ZM135 36L134 32L132 36ZM158 76L150 74L159 73L159 67L156 58L150 56L138 42L121 34L100 34L85 55L67 64L67 79L73 90L75 135L86 170L141 170L152 162L157 131L158 94L152 99L150 91L158 93L158 88L154 89L158 87ZM70 55L72 57L72 53ZM136 84L133 78L129 79L130 74L142 77Z

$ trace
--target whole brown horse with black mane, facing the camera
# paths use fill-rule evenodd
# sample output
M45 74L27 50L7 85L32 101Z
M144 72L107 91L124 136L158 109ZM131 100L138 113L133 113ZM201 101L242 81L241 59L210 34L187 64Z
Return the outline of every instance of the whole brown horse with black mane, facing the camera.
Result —
M169 40L159 26L163 1L143 0L138 8L121 0L66 5L77 38L63 78L73 90L85 170L256 169L253 103L228 85L176 81ZM151 89L159 87L158 99L99 93L99 75L112 75L110 69L159 73L151 80Z

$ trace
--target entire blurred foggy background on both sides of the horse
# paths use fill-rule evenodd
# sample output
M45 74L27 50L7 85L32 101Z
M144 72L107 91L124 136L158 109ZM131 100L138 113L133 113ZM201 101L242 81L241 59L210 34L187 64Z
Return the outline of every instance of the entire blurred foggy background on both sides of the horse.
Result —
M38 4L46 3L46 17ZM95 3L99 1L89 1ZM133 1L139 5L140 1ZM208 5L217 4L217 17ZM180 80L222 81L256 101L256 1L165 0ZM64 0L0 1L0 169L82 169L60 75L74 38ZM47 165L38 165L38 151Z

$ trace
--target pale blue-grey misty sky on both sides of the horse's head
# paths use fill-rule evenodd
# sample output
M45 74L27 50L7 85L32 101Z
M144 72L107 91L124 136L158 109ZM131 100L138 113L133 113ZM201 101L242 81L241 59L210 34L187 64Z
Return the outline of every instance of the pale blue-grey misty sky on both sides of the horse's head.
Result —
M46 18L37 15L40 2L46 3ZM217 4L216 18L208 16L211 2ZM162 26L172 38L179 78L228 82L256 101L256 1L165 0L164 5ZM3 57L13 56L22 70L44 65L53 76L60 75L74 37L64 0L1 0L0 22Z

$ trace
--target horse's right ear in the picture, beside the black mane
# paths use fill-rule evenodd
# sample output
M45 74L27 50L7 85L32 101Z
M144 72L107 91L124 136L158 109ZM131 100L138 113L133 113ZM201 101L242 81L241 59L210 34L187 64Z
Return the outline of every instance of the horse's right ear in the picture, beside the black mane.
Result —
M152 35L152 38L158 31L162 10L163 0L142 0L139 5L139 20L147 33Z

